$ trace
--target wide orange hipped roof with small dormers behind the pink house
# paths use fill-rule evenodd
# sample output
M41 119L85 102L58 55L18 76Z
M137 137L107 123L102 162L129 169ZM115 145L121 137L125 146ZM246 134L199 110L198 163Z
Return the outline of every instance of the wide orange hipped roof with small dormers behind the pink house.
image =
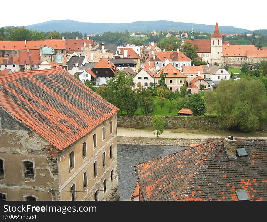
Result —
M153 55L151 55L146 61L165 61L166 59L169 61L191 61L191 59L182 52L154 52L154 54L155 59L153 59Z

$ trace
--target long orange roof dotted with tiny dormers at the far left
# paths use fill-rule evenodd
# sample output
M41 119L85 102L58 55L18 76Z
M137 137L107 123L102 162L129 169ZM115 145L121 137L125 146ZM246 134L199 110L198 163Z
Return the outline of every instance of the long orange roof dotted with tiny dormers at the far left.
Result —
M42 41L0 41L0 50L39 50L40 45L50 46L53 49L66 49L62 40L42 40Z

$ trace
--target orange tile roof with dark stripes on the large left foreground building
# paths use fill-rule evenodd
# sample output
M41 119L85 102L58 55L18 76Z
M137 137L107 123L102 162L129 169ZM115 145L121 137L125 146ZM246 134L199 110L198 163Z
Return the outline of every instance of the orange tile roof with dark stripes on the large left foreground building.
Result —
M63 150L119 110L57 67L0 76L0 107Z

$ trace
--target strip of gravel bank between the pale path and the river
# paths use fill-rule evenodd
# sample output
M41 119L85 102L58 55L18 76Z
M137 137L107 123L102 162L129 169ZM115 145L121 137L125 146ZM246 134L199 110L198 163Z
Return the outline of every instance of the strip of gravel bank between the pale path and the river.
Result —
M155 145L155 146L183 146L189 147L190 144L201 144L207 140L181 140L170 138L147 138L147 137L117 137L117 144L129 144L129 145Z

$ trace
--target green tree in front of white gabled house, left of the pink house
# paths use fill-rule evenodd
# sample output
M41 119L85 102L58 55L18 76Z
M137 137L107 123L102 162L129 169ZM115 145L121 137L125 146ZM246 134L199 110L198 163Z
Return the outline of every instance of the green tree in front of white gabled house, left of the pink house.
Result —
M149 89L139 86L136 90L136 98L137 108L141 109L142 113L146 115L147 113L154 113L156 109L156 104Z

